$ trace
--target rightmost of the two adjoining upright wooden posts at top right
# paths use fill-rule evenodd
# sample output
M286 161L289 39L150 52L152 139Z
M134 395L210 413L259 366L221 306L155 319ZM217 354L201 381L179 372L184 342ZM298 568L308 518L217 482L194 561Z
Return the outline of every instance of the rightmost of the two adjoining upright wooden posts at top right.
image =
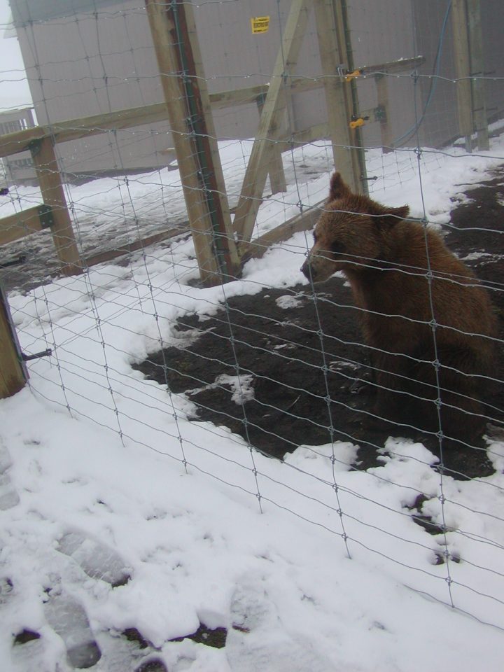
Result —
M481 8L479 0L467 0L467 8L472 90L472 115L476 131L477 148L479 151L487 151L490 149L490 140L488 119L486 118L486 102L483 79L483 38Z

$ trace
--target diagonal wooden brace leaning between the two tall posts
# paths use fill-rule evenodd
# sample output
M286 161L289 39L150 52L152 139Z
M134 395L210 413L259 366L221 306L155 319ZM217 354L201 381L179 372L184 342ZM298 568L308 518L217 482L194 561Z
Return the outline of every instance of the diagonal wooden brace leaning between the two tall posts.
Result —
M260 116L258 133L255 136L251 156L245 172L241 194L235 216L235 231L239 241L251 239L255 218L260 206L262 191L267 176L267 162L271 155L270 134L276 132L280 116L283 83L293 70L299 55L302 37L306 31L309 0L293 0L282 37L281 48L276 57L272 80L266 94L264 108Z

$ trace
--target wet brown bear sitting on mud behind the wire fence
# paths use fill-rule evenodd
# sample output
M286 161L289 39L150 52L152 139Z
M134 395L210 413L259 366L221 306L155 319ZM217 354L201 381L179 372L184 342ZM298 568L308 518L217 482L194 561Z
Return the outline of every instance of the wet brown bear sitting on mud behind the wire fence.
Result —
M470 269L408 214L353 194L335 172L301 270L314 282L336 271L348 279L374 373L373 414L470 444L488 419L481 399L496 318Z

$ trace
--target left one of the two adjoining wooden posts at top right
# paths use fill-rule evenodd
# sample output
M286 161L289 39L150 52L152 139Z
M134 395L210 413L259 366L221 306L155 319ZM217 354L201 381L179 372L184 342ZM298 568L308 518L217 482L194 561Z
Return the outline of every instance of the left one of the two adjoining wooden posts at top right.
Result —
M455 62L456 95L458 108L458 130L465 138L465 149L472 151L471 135L474 131L472 119L472 92L470 83L470 56L468 38L468 15L465 0L452 0L451 25L453 29L453 49Z

